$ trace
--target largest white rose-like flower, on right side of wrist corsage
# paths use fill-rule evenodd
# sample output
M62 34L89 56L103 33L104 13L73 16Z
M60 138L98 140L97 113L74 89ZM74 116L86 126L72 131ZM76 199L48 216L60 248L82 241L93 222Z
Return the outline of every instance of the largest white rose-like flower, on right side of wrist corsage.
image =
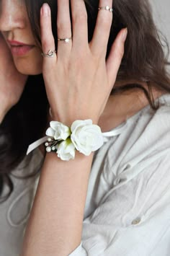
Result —
M71 125L71 141L79 152L89 156L103 145L102 131L92 120L76 120Z

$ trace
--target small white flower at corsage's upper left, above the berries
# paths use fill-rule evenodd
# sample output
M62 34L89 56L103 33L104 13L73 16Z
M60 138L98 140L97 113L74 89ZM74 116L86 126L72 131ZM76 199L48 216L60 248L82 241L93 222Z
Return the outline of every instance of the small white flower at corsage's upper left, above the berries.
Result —
M46 131L46 135L53 137L55 140L66 140L71 135L71 130L68 126L63 125L58 121L51 121L50 128Z

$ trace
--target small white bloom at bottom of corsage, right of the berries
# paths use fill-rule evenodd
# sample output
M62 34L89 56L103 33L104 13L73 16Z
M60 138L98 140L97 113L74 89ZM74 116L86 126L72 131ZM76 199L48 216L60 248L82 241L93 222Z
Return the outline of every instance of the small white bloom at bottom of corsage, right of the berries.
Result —
M66 141L61 142L58 146L58 157L61 158L63 161L69 161L70 159L75 158L75 146L71 142L71 139L68 138Z

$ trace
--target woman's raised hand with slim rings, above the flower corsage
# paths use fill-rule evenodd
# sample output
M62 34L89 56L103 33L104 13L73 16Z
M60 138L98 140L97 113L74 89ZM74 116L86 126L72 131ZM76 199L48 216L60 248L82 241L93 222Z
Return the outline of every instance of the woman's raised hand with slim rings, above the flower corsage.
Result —
M107 2L107 4L106 4ZM112 6L112 0L100 0L99 6ZM66 125L74 120L99 120L115 84L124 53L127 30L123 29L106 58L112 13L99 11L94 37L88 43L87 14L84 0L71 0L73 40L58 42L53 58L45 57L42 73L53 119ZM42 50L55 49L50 9L44 4L40 15ZM58 37L71 37L69 1L58 1Z

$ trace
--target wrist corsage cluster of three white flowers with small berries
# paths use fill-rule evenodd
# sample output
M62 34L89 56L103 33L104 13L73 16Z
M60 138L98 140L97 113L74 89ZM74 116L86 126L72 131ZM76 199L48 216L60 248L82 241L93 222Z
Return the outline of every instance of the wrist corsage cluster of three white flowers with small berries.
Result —
M51 121L46 131L46 151L54 152L64 161L75 158L76 150L85 156L103 145L102 131L92 120L76 120L71 128L58 121Z

